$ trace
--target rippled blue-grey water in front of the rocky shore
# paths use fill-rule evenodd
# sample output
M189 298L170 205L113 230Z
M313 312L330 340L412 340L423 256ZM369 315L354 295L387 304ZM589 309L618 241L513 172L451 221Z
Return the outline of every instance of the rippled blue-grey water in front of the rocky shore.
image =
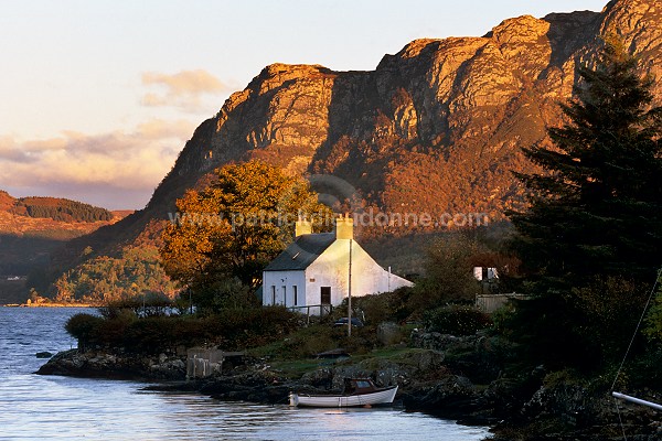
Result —
M397 409L290 409L143 391L145 384L40 376L38 352L75 347L81 309L0 308L0 440L482 440L470 428Z

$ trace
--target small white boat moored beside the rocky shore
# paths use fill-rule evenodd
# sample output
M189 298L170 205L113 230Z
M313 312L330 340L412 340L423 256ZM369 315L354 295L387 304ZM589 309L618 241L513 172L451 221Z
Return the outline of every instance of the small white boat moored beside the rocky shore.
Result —
M297 407L370 407L391 405L397 386L380 388L370 378L345 378L341 395L305 395L290 392L290 406Z

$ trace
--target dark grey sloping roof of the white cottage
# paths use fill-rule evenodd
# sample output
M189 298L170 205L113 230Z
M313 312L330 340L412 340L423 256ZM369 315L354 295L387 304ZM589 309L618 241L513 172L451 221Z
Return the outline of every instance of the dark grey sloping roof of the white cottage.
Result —
M331 244L334 233L301 235L265 268L265 271L289 271L308 268Z

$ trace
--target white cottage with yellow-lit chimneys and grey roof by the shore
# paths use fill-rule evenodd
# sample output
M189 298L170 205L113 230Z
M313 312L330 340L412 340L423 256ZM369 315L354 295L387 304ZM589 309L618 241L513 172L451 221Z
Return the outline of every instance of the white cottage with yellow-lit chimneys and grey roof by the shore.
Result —
M265 268L263 304L282 304L310 314L339 305L349 294L350 254L352 297L413 284L386 271L361 248L353 237L352 217L339 217L334 233L311 232L310 222L297 222L295 241Z

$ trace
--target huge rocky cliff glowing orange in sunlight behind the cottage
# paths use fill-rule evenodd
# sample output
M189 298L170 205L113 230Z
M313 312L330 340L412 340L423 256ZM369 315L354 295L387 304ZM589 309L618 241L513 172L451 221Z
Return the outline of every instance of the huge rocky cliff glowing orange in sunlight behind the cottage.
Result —
M509 19L480 37L416 40L370 72L267 66L195 130L145 211L85 240L132 240L214 168L250 159L341 178L388 212L500 218L522 201L511 170L532 168L521 148L548 142L602 35L620 35L642 74L661 76L661 15L659 0L613 0Z

